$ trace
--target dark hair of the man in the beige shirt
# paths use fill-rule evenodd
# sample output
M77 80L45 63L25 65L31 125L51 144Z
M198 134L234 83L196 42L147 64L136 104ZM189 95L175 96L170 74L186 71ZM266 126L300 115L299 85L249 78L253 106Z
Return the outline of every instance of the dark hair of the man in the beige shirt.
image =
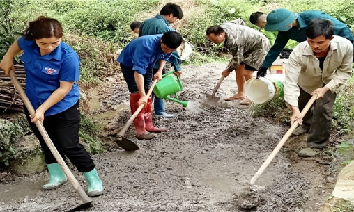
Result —
M314 39L318 36L325 35L325 39L332 38L334 33L334 24L330 19L312 19L307 25L307 38Z

